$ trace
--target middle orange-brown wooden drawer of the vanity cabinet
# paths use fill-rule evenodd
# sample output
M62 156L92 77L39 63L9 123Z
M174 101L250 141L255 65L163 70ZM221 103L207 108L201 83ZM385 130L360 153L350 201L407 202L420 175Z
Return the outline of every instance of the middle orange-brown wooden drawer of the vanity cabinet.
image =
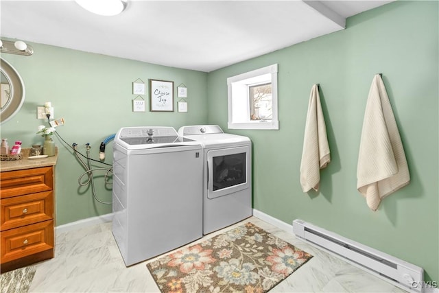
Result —
M53 217L54 191L14 196L1 200L1 231L52 220Z

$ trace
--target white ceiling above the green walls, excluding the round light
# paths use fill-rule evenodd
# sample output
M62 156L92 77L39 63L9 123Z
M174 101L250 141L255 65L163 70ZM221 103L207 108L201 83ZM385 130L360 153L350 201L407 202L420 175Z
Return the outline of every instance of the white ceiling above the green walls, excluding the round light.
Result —
M99 16L73 0L0 0L0 35L209 72L343 30L346 17L389 2L128 0Z

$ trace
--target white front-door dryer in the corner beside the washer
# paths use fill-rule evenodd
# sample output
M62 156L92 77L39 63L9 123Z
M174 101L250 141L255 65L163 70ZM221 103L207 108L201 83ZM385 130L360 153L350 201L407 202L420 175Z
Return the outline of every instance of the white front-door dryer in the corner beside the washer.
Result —
M182 137L203 145L203 233L252 215L252 143L217 125L183 126Z

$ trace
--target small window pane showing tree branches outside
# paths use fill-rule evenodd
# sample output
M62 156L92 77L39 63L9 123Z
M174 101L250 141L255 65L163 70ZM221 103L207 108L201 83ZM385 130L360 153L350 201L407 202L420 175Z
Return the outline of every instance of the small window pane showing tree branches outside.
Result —
M273 117L271 82L248 86L248 92L250 120L271 120Z

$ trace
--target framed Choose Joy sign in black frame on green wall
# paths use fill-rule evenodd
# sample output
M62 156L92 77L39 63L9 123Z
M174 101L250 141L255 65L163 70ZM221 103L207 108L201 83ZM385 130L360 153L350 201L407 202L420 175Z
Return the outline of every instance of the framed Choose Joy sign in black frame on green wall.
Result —
M174 82L150 80L150 111L174 112Z

